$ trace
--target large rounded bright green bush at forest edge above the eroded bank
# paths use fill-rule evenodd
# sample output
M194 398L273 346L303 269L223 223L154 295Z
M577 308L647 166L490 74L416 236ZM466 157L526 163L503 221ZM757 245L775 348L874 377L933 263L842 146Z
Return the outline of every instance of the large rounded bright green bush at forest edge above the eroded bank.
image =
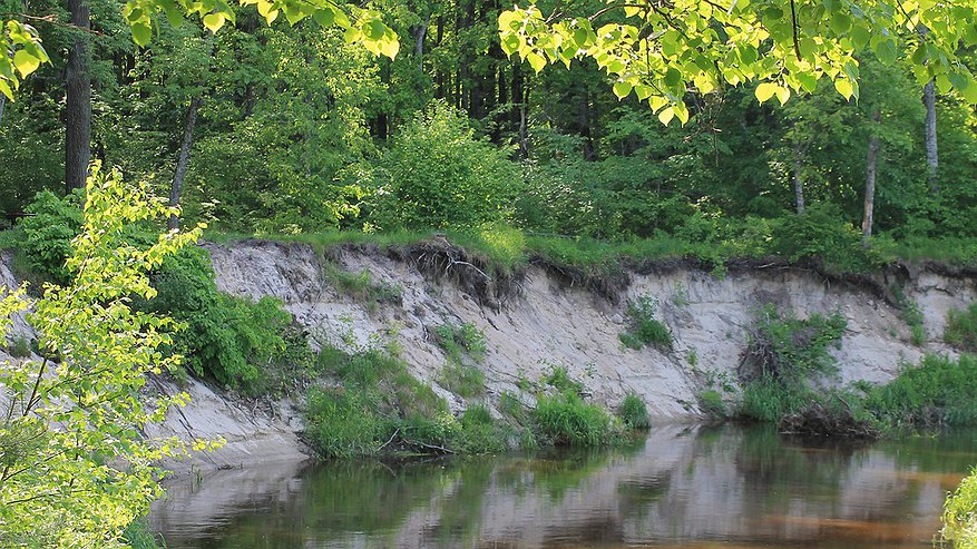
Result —
M371 225L385 231L479 227L510 216L517 165L475 138L443 104L401 128L373 173Z

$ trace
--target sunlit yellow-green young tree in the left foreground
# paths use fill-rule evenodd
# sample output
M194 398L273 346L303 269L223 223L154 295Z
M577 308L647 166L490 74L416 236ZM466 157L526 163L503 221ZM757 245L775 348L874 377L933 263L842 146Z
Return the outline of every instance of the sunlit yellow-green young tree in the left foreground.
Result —
M4 288L0 332L30 311L39 359L0 367L0 545L4 547L121 547L121 532L160 493L154 462L188 447L147 439L186 395L147 404L147 373L178 363L169 318L136 312L131 297L152 298L148 273L201 228L168 232L147 247L131 244L134 226L170 214L147 187L126 185L96 164L88 178L81 233L71 242L65 286L46 284L36 300ZM204 441L196 448L213 445Z

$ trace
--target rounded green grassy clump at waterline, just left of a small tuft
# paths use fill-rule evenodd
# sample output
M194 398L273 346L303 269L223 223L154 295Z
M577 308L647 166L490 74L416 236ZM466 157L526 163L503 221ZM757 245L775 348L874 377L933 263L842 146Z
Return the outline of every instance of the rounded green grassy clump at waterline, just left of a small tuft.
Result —
M615 435L610 415L573 393L539 396L533 419L545 440L555 445L599 447Z

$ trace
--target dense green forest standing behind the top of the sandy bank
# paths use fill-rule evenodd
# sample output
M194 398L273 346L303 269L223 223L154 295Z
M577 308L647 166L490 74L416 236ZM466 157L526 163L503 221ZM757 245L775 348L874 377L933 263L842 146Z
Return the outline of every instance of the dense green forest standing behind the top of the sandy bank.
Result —
M68 19L58 3L25 6ZM732 255L830 252L794 242L807 213L807 237L975 254L977 120L944 81L930 105L910 67L867 52L857 100L830 79L784 106L725 85L687 94L691 120L666 127L634 95L619 100L592 59L537 73L506 56L502 8L377 4L400 37L391 60L246 8L216 35L163 24L144 49L119 3L94 2L80 69L80 31L40 20L50 63L0 111L0 209L12 224L38 192L79 187L92 158L221 233L506 225L735 243ZM72 94L77 78L90 97Z

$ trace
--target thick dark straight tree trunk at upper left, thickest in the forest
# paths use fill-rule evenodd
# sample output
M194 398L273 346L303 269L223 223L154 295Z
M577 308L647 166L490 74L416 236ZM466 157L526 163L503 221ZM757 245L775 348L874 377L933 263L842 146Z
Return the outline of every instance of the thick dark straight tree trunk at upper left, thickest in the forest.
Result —
M88 29L91 28L86 0L68 0L75 43L68 52L66 71L65 186L70 193L85 187L91 160L91 73Z

